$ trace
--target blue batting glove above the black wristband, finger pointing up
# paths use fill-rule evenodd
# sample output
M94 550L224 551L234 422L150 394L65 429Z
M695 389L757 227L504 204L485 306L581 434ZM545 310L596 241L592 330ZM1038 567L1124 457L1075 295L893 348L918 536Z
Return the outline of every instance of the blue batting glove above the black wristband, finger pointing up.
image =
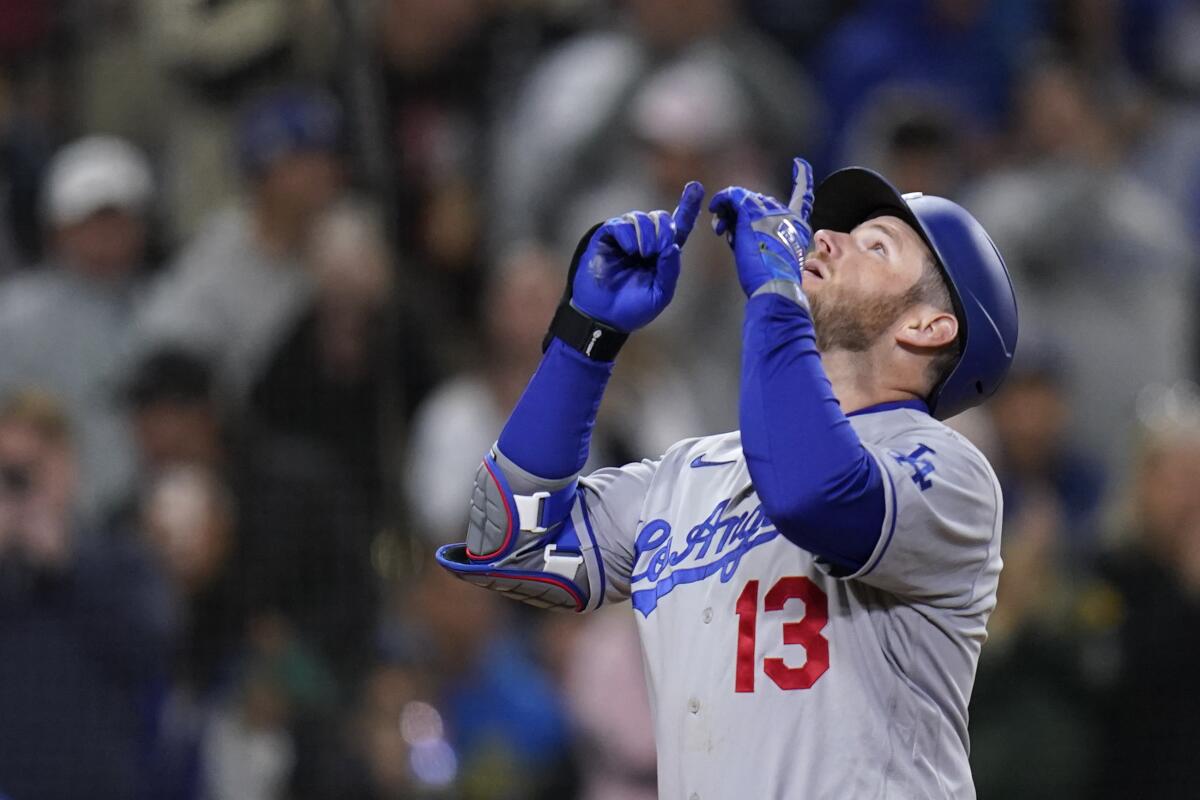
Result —
M575 273L575 307L626 333L662 313L674 296L680 248L703 199L704 187L691 181L673 213L630 211L596 228Z

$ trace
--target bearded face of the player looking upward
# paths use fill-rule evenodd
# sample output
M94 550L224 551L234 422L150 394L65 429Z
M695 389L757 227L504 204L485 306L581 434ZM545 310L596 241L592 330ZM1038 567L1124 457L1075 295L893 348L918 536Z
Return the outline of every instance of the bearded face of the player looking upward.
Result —
M899 217L874 217L850 233L818 230L804 263L817 348L863 351L912 305L908 290L932 258Z

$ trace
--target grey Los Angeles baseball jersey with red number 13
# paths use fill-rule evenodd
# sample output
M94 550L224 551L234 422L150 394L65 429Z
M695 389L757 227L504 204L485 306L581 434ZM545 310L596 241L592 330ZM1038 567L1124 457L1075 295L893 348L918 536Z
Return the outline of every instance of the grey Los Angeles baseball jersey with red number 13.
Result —
M581 481L606 600L637 618L660 796L974 796L967 702L1001 569L1000 486L925 414L851 423L887 504L853 575L763 516L737 433Z

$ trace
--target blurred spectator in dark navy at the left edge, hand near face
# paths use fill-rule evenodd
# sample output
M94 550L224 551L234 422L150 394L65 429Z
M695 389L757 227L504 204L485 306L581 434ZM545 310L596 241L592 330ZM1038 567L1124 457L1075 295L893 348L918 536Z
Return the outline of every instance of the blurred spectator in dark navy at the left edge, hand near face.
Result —
M76 457L53 398L0 405L0 790L142 796L172 621L134 542L73 521Z

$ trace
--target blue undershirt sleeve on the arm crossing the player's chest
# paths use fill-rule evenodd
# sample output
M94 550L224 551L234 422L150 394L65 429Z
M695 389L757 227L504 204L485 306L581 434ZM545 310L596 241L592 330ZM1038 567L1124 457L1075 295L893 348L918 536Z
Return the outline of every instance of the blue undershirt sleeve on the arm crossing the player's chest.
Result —
M767 517L839 570L860 569L883 525L883 476L833 393L809 312L778 294L746 302L739 420Z

